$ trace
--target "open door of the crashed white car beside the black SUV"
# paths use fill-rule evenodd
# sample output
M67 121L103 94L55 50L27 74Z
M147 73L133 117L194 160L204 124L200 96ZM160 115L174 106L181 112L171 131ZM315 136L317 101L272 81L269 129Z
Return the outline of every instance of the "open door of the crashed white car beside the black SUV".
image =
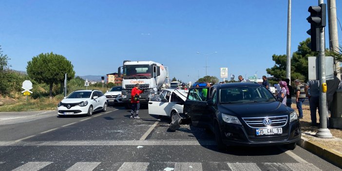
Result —
M163 92L151 92L149 101L149 114L170 116L167 106L170 102L170 98L166 98L169 91Z

